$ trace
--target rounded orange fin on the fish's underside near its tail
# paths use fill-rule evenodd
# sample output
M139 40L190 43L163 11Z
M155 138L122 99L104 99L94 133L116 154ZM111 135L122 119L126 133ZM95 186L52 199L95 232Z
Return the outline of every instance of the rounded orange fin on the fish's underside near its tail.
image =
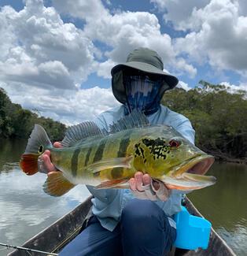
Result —
M62 172L56 171L48 175L46 182L43 184L43 191L48 195L61 196L75 186L65 178Z

